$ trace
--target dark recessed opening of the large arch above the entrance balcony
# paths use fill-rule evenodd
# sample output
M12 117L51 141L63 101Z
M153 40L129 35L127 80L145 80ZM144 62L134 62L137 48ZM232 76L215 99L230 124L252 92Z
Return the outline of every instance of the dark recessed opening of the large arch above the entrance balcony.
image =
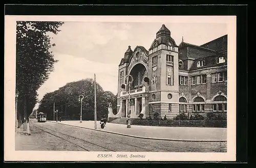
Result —
M133 76L134 81L131 86L131 90L142 88L144 77L146 77L146 68L142 64L136 64L131 72L130 75Z

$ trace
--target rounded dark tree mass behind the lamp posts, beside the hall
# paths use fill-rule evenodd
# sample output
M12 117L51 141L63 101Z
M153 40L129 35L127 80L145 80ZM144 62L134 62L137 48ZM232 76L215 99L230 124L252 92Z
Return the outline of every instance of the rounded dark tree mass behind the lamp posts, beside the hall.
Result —
M79 95L84 96L82 120L94 120L94 80L91 78L67 83L58 90L47 93L40 101L38 113L46 113L47 120L53 120L53 108L55 107L55 111L58 110L58 117L62 120L78 120L81 108L81 102L78 101ZM117 95L104 91L98 83L96 83L96 100L97 120L102 117L108 118L109 103L112 103L113 113L116 113Z

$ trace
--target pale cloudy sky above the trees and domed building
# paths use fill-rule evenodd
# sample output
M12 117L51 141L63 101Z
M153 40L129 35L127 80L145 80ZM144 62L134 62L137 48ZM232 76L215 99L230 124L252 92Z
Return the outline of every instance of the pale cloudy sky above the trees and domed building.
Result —
M124 52L129 45L132 50L137 45L148 50L162 24L177 45L182 37L186 43L202 45L227 34L225 23L65 22L57 35L49 34L51 43L56 44L51 51L58 62L37 91L38 100L68 82L94 78L94 73L103 90L116 94Z

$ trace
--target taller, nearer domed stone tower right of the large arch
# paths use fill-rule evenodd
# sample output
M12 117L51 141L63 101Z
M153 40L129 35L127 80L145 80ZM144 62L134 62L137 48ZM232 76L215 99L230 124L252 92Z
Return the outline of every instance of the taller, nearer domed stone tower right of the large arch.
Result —
M150 116L173 118L179 113L178 46L163 24L156 33L148 55L150 76Z

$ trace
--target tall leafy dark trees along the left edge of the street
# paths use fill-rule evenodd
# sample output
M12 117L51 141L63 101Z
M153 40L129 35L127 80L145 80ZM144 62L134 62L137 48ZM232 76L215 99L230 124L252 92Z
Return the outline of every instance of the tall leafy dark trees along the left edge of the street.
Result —
M37 90L48 79L54 69L50 48L51 37L57 34L63 22L17 21L16 23L16 93L17 119L29 117L37 103Z

